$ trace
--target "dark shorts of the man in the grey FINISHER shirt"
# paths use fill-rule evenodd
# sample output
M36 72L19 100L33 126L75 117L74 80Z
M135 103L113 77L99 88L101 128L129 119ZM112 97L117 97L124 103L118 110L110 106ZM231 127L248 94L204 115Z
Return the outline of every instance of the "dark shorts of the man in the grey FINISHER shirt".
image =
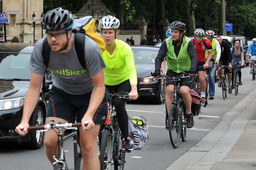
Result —
M86 110L88 109L91 93L74 95L68 94L63 90L60 90L54 86L49 92L50 104L48 107L46 117L59 117L65 119L68 122L81 122ZM106 89L103 101L94 113L93 121L95 124L108 124L108 90Z

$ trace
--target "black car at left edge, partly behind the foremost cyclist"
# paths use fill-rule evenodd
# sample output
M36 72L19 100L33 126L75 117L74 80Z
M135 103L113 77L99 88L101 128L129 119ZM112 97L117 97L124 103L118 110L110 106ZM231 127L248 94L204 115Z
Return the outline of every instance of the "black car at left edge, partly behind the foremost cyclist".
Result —
M24 137L15 132L15 127L22 118L24 99L30 84L29 63L33 48L34 46L28 46L20 50L19 47L13 48L13 45L6 47L0 44L0 142L27 143L28 147L39 149L43 143L42 132L29 131ZM3 52L3 49L6 52ZM19 52L15 52L17 49ZM50 75L44 76L40 97L29 121L30 125L45 124L49 104L48 89L51 86L49 77Z

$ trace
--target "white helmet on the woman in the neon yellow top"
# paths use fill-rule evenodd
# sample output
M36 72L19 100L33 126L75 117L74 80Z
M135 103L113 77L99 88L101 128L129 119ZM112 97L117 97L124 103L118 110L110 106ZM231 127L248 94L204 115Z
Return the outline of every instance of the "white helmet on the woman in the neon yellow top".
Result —
M118 29L120 26L120 21L113 16L104 16L99 23L101 29Z

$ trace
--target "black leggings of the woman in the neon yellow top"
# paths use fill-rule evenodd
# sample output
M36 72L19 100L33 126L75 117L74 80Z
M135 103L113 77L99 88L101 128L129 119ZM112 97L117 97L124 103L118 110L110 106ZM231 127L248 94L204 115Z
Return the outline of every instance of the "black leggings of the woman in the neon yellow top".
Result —
M106 85L106 88L108 89L108 93L112 94L120 93L120 92L130 92L131 91L131 85L130 81L126 80L122 82L121 84L118 84L116 86L108 86ZM114 106L116 109L116 115L117 115L117 121L118 125L122 131L122 137L129 137L129 129L128 129L128 115L126 112L126 109L124 107L126 99L114 97Z

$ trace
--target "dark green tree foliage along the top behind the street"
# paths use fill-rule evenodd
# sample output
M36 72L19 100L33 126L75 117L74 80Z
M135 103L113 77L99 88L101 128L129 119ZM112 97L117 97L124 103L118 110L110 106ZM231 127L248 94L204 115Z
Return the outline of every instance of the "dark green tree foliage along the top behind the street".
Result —
M90 0L89 0L90 1ZM227 1L227 0L226 0ZM61 6L73 13L78 12L88 0L44 0L44 13L53 8ZM114 0L102 0L111 12L114 12ZM134 22L138 17L143 16L148 24L153 24L153 14L157 13L155 0L155 11L153 10L153 0L119 0L124 3L124 21ZM196 28L204 30L212 29L218 34L218 6L220 0L192 0L191 8L194 12ZM164 0L164 16L171 23L172 21L182 21L188 24L186 14L187 0ZM97 5L97 4L96 4ZM226 11L228 10L226 5ZM226 12L228 16L228 11ZM226 17L228 19L228 17ZM256 36L256 1L255 0L230 0L230 22L233 23L231 34L245 35L249 39ZM228 21L226 21L228 23ZM157 24L157 23L156 23ZM188 31L187 31L188 32Z

